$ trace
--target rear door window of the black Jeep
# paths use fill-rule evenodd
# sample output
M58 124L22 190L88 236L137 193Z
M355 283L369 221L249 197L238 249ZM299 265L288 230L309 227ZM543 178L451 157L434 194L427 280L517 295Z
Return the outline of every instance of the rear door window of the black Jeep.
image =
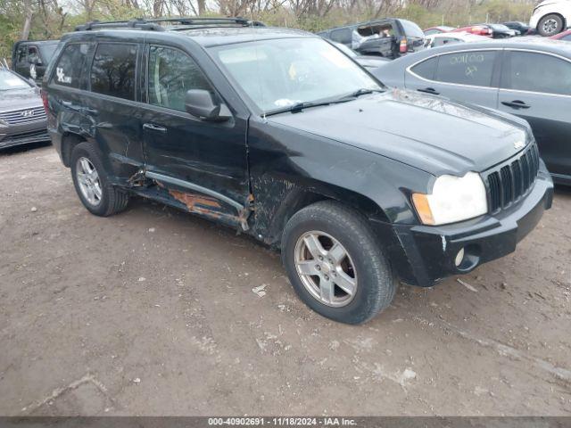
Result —
M91 90L135 100L137 45L100 43L91 66Z

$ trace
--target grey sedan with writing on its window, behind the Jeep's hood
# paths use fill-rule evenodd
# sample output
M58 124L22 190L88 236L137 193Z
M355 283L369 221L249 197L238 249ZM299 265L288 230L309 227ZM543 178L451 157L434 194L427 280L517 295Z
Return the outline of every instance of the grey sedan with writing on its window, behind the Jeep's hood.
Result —
M556 183L571 185L571 45L542 37L443 45L371 70L386 86L514 114Z

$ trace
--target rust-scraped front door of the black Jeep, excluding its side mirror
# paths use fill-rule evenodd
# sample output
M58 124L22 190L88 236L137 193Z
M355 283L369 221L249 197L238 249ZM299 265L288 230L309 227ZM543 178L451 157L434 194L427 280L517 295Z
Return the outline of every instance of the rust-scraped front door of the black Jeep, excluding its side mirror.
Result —
M213 122L190 115L185 110L190 89L207 90L218 103L225 101L188 53L166 45L147 45L145 52L147 108L141 123L146 177L187 210L246 229L247 118L235 113L228 121Z

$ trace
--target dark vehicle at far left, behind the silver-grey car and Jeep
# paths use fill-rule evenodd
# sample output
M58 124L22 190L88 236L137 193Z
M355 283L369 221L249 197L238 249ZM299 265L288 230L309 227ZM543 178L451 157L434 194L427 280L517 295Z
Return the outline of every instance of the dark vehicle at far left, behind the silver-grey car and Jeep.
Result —
M24 78L42 81L59 40L21 40L12 47L12 70Z

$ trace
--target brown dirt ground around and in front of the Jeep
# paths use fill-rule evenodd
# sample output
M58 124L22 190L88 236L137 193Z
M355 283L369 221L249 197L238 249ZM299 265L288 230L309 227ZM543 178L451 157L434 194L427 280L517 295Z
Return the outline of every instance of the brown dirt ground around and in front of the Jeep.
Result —
M0 198L0 415L571 415L571 192L514 254L360 326L229 229L90 215L51 146L0 155Z

